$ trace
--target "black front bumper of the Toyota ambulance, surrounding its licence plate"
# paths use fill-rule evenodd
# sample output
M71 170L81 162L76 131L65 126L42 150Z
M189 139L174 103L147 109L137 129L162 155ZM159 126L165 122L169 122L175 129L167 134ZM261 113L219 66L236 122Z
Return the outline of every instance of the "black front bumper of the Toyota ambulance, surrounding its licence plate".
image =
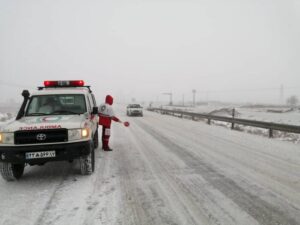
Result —
M0 162L42 164L49 161L67 161L88 155L90 141L33 146L0 146ZM26 159L26 152L55 151L55 157Z

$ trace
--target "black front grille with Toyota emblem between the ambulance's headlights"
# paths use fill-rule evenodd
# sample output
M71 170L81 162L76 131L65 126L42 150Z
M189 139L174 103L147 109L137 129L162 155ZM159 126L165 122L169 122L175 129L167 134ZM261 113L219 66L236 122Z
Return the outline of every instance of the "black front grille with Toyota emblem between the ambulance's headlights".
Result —
M15 144L39 144L68 141L67 129L26 130L15 132Z

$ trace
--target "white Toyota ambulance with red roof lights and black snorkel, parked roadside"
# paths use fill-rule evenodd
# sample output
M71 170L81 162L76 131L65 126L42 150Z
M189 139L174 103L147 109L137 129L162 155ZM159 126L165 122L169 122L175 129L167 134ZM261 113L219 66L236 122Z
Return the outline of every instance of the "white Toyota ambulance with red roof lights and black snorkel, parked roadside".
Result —
M45 81L32 95L22 93L16 120L0 130L0 173L19 179L25 165L78 159L81 174L95 168L98 146L98 107L82 80Z

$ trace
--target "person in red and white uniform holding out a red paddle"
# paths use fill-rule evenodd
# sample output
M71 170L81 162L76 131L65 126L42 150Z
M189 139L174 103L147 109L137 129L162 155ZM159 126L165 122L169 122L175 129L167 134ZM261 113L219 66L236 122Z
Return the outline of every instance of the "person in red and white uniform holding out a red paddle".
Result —
M115 116L112 104L113 97L107 95L105 98L105 103L99 106L99 125L102 126L102 149L104 151L112 151L112 149L109 147L111 121L123 123L118 117ZM128 122L124 122L123 124L126 127L129 126Z

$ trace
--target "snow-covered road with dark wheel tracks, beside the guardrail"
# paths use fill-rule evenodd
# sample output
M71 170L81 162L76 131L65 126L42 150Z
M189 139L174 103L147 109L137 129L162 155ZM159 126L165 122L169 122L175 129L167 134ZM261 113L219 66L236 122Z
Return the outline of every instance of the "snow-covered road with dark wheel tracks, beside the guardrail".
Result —
M0 224L300 224L299 145L152 112L128 120L92 176L74 162L0 179Z

